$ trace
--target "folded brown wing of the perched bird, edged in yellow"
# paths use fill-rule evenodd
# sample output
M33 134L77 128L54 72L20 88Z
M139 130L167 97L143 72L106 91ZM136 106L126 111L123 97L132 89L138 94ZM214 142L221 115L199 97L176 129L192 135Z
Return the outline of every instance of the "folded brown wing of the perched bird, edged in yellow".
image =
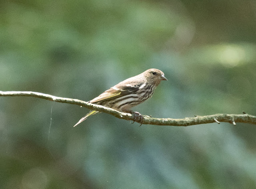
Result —
M140 87L144 87L146 84L144 83L118 83L114 87L111 87L100 96L88 101L90 103L98 103L105 100L110 100L112 98L118 98L120 96L129 95L132 93L136 93Z

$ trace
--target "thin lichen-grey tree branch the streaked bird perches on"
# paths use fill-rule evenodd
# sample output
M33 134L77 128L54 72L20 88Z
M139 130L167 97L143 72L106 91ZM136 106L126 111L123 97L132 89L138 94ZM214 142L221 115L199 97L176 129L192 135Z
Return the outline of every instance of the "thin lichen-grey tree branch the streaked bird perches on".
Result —
M112 108L106 108L97 104L91 104L78 99L72 98L62 98L52 95L47 95L43 93L31 92L31 91L0 91L0 96L32 96L36 98L43 98L46 100L51 100L54 102L62 102L68 104L76 104L79 106L84 106L90 110L97 110L104 112L110 115L113 115L117 118L124 120L134 120L133 114L127 114L123 112L118 112ZM150 116L143 115L144 119L142 124L151 124L151 125L166 125L166 126L190 126L206 123L220 123L220 122L229 122L234 125L237 123L249 123L256 124L256 116L249 114L214 114L209 116L195 116L194 118L184 118L184 119L172 119L172 118L152 118ZM139 122L139 121L138 121ZM140 123L140 122L139 122Z

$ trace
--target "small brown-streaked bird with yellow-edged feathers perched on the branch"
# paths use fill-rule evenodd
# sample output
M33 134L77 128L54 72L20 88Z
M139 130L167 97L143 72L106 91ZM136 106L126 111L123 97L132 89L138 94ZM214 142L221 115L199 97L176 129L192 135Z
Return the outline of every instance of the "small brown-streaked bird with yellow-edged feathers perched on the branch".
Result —
M151 98L156 87L162 80L167 80L162 71L158 69L148 69L139 75L118 83L88 102L112 108L119 112L133 113L135 120L136 116L137 118L139 116L140 120L142 120L143 116L138 112L133 112L130 108ZM97 113L99 112L96 110L90 110L90 112L82 117L74 126L77 126L89 116Z

